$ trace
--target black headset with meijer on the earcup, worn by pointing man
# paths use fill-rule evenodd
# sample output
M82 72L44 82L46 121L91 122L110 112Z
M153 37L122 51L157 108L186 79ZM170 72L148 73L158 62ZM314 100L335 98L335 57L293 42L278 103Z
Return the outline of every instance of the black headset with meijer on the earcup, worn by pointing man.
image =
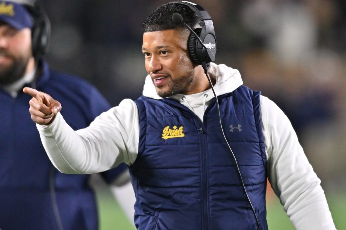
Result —
M194 32L203 42L204 46L199 42L194 33L190 34L187 41L187 47L193 63L200 65L203 62L209 63L214 61L216 54L216 36L213 21L211 20L209 13L201 6L188 1L172 1L168 4L186 5L198 16L199 25L202 28L197 28ZM212 54L208 54L205 47L208 48Z

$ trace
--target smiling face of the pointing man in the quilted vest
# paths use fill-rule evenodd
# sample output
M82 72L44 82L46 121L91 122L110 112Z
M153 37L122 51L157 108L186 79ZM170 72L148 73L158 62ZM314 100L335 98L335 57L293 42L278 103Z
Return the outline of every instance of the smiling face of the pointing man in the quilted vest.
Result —
M145 32L142 52L145 68L160 97L200 91L200 70L187 51L189 31L169 29Z

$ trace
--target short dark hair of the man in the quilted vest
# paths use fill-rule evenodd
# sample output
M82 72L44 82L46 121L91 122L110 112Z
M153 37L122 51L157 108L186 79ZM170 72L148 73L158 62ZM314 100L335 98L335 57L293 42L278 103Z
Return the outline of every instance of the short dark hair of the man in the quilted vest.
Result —
M151 12L143 23L143 32L161 31L169 29L183 28L182 23L174 23L172 15L179 13L184 22L191 28L195 28L199 22L197 14L187 5L182 4L163 4Z

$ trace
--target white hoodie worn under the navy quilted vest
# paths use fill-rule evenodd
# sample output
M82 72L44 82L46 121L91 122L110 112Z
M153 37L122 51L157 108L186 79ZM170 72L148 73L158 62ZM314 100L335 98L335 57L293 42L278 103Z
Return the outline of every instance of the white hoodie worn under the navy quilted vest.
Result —
M210 63L216 95L243 84L238 70ZM147 76L143 95L160 99ZM201 120L214 97L211 89L171 98L192 110ZM261 96L261 118L271 186L298 230L335 230L320 180L308 162L291 123L274 102ZM37 125L54 166L63 173L86 174L133 164L138 152L139 117L131 99L123 100L97 117L88 128L73 131L58 113L48 125Z

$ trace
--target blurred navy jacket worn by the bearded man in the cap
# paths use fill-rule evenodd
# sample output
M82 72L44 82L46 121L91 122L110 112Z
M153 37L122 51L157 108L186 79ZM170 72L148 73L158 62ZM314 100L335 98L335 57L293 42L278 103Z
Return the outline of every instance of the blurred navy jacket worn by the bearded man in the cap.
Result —
M44 91L63 105L73 129L88 126L110 108L97 89L73 76L50 71L46 63L38 80L28 85ZM31 97L12 98L0 89L0 228L2 230L97 230L95 195L89 175L58 172L41 144L30 118ZM126 168L102 173L109 182ZM54 213L57 208L59 215Z

